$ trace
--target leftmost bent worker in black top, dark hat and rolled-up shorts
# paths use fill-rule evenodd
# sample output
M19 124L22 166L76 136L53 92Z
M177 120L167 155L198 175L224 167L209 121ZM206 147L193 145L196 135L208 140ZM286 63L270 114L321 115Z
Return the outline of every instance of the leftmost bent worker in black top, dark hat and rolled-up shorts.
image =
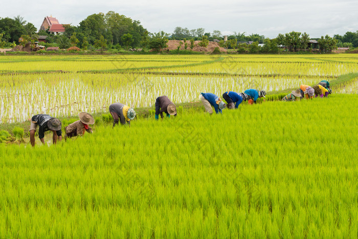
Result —
M52 142L53 144L57 143L57 140L60 141L62 139L61 132L61 121L57 118L53 118L49 115L39 114L34 115L31 119L30 125L30 143L34 147L35 146L35 133L36 128L38 127L38 138L41 140L42 144L44 144L44 132L52 131Z

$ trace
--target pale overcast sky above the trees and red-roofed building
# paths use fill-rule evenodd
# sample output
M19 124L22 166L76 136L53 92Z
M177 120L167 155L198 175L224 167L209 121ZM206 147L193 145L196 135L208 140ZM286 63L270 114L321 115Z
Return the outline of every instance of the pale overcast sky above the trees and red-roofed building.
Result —
M140 20L149 32L172 33L175 27L219 30L223 35L245 32L274 38L290 31L311 38L358 30L357 0L63 0L29 2L0 0L0 17L25 17L39 29L45 16L78 26L88 15L108 11Z

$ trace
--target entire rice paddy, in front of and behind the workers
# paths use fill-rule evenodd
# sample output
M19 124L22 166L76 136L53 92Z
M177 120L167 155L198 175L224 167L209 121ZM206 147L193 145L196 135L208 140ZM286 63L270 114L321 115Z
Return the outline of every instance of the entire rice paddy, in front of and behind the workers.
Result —
M323 99L178 107L56 145L0 144L0 238L357 238L357 72L353 54L0 56L3 123L333 86Z

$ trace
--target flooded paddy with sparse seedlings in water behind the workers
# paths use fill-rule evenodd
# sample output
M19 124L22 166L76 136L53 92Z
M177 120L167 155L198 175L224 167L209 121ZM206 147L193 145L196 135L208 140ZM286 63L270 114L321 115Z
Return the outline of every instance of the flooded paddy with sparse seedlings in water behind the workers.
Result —
M318 81L315 78L288 77L154 75L122 85L113 81L113 84L101 86L84 83L83 77L87 75L69 79L62 77L56 82L38 79L0 90L0 122L23 122L36 114L59 117L78 115L80 112L106 112L108 106L115 102L135 108L152 107L156 97L162 95L167 95L174 103L182 103L197 101L200 92L212 92L221 97L226 91L243 92L253 88L270 92L298 88L302 82L311 84Z

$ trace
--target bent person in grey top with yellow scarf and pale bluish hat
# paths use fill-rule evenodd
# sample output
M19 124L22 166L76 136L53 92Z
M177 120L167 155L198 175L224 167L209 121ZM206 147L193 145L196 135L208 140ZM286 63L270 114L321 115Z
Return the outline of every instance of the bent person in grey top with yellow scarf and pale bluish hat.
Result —
M109 113L113 117L113 127L120 121L121 124L129 124L136 117L136 112L132 107L122 103L113 103L109 105Z

